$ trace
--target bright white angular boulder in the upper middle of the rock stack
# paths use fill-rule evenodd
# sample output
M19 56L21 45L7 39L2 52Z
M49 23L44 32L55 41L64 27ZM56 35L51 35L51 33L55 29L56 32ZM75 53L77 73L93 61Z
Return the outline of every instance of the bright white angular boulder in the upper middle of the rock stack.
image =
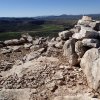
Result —
M73 34L72 37L75 39L99 38L99 33L93 30L91 27L81 26L80 32Z

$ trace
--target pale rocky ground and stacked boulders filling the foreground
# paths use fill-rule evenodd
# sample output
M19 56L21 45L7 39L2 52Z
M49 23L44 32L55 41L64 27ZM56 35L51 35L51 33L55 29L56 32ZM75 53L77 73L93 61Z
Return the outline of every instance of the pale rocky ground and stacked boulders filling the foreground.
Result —
M84 16L52 40L0 42L0 100L99 100L98 23Z

